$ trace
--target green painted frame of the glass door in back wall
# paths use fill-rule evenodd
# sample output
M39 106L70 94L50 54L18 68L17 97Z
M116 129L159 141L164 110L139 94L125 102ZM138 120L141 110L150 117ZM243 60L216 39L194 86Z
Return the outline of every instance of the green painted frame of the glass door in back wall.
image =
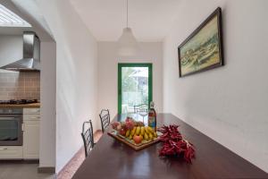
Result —
M153 100L153 64L148 63L119 63L118 64L118 114L121 114L121 68L122 67L148 67L149 79L148 79L148 106Z

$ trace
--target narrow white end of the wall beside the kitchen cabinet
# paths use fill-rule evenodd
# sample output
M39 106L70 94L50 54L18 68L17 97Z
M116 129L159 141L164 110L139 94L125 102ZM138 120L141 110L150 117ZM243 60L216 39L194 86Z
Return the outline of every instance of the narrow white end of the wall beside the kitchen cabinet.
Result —
M41 42L39 166L55 166L56 45Z

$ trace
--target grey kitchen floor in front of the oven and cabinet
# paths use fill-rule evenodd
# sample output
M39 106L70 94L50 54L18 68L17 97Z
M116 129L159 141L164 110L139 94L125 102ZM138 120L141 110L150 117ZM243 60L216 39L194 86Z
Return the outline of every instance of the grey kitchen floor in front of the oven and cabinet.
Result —
M38 174L38 164L0 163L0 179L54 179L55 175Z

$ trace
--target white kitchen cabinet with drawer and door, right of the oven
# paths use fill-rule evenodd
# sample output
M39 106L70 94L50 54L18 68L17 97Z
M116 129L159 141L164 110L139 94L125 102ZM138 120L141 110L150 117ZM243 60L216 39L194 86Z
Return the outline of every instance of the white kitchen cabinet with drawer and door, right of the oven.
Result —
M23 158L39 158L40 115L37 108L23 109Z

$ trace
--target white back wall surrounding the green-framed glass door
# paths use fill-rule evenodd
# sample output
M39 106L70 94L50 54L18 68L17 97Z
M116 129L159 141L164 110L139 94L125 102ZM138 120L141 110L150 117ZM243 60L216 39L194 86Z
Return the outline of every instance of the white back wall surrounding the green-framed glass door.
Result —
M163 110L163 44L161 42L139 43L138 55L119 57L116 42L98 42L98 112L102 108L117 114L117 67L118 63L153 64L153 100L155 108ZM100 124L98 125L100 127Z

